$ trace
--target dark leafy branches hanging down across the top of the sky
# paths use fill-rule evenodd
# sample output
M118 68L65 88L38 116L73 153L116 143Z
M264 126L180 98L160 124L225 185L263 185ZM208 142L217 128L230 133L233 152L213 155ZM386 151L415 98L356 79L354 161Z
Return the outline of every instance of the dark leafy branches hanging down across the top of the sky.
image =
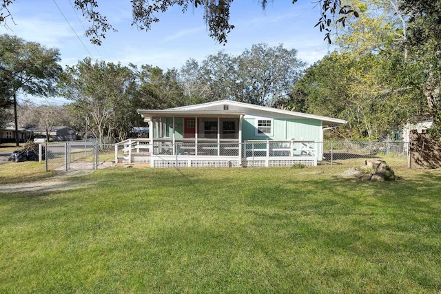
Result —
M12 19L8 7L14 2L15 0L3 0L3 4L0 4L0 24L6 24L8 18ZM227 35L234 29L234 25L229 23L229 8L232 2L233 0L131 0L132 25L136 25L140 30L150 30L152 23L159 21L157 17L159 12L165 12L174 6L180 6L183 12L190 7L202 7L209 36L212 36L219 43L226 43ZM263 9L265 9L268 2L268 0L258 1ZM297 0L292 0L292 3L296 2ZM316 4L321 8L320 19L316 26L320 28L320 31L324 30L326 32L325 39L329 43L331 42L331 24L342 23L342 25L345 25L345 21L349 16L358 16L358 12L351 6L342 4L342 0L316 0ZM85 31L85 35L90 37L92 43L101 45L107 30L114 30L114 28L107 21L107 18L99 12L98 1L75 0L74 7L81 10L85 19L88 19L91 23L90 28Z

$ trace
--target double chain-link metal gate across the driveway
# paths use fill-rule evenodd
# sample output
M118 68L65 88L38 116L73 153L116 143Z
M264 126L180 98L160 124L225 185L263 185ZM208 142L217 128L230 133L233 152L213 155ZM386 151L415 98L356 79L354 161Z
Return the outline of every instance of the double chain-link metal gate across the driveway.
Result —
M46 171L96 170L96 142L69 141L45 144Z

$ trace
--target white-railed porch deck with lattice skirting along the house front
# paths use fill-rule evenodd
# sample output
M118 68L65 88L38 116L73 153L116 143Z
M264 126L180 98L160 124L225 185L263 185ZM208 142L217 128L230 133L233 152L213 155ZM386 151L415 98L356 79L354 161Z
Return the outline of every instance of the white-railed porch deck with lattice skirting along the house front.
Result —
M115 145L115 162L151 167L275 167L317 165L317 145L307 140L127 139Z

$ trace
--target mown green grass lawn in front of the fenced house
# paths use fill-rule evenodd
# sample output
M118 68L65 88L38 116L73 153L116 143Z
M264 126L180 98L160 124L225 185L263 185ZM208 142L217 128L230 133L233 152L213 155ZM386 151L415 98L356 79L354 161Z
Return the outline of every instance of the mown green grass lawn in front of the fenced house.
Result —
M0 193L0 293L440 293L441 171L343 170L114 168Z

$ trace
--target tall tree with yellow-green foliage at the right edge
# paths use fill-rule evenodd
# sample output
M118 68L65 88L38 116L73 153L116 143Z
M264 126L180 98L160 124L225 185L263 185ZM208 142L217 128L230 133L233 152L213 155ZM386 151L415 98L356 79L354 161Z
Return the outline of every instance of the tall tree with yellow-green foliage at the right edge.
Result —
M391 101L391 96L399 93L395 104L404 103L407 120L429 116L433 118L432 134L441 137L439 1L347 0L347 3L358 8L360 17L347 21L337 43L354 56L375 52L381 57L378 63L384 65L375 66L376 70L369 75L358 75L363 78L358 91L364 88L372 101L379 96L389 96ZM424 99L426 105L422 107Z

